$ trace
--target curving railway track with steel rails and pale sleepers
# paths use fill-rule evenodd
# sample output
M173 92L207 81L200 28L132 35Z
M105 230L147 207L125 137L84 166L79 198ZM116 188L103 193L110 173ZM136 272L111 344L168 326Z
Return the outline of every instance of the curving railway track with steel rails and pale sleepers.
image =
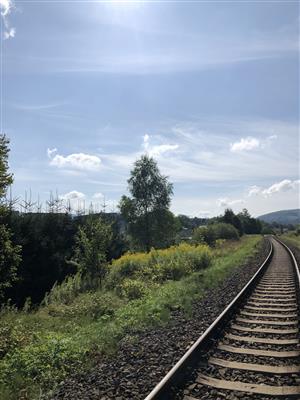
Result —
M300 273L270 239L259 271L145 400L300 399Z

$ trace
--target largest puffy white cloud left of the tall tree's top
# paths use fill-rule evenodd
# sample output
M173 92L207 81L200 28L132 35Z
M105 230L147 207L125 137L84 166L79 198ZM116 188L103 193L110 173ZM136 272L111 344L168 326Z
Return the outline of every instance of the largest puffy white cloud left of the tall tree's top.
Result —
M97 171L101 167L101 159L97 156L84 153L74 153L68 156L56 154L56 156L51 159L50 165L64 169Z

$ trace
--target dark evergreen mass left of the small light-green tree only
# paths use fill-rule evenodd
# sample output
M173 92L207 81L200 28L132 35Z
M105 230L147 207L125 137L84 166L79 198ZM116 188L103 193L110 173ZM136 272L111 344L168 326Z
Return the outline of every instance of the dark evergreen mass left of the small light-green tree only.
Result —
M66 260L72 256L78 221L68 214L12 213L9 225L22 246L22 262L8 297L20 307L27 297L39 303L56 281L76 272Z

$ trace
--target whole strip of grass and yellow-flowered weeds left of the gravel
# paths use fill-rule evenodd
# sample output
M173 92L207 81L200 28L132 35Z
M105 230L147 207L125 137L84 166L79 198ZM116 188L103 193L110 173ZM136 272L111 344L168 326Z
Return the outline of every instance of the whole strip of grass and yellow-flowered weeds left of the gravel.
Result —
M167 323L171 310L188 313L195 299L254 255L260 241L259 236L248 236L214 249L184 244L125 255L110 266L105 287L84 291L84 278L75 275L54 287L36 310L4 307L0 398L38 398L70 373L91 367L91 360L112 354L134 331ZM146 270L149 276L140 285L139 275Z

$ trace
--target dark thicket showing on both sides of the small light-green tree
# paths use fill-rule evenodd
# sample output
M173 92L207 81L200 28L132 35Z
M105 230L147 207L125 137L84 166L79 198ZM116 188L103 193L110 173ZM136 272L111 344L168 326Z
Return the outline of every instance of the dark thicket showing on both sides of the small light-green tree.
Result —
M13 242L21 246L22 261L18 280L7 291L6 298L19 307L29 297L33 304L38 304L55 282L61 283L67 276L75 274L79 254L75 255L74 251L76 240L81 240L78 235L83 239L84 232L90 231L89 221L99 217L99 214L73 216L68 213L11 212L7 215ZM110 240L105 244L106 258L110 261L120 257L128 247L120 235L118 219L110 214L101 214L101 218L112 230ZM72 259L74 263L70 262Z

